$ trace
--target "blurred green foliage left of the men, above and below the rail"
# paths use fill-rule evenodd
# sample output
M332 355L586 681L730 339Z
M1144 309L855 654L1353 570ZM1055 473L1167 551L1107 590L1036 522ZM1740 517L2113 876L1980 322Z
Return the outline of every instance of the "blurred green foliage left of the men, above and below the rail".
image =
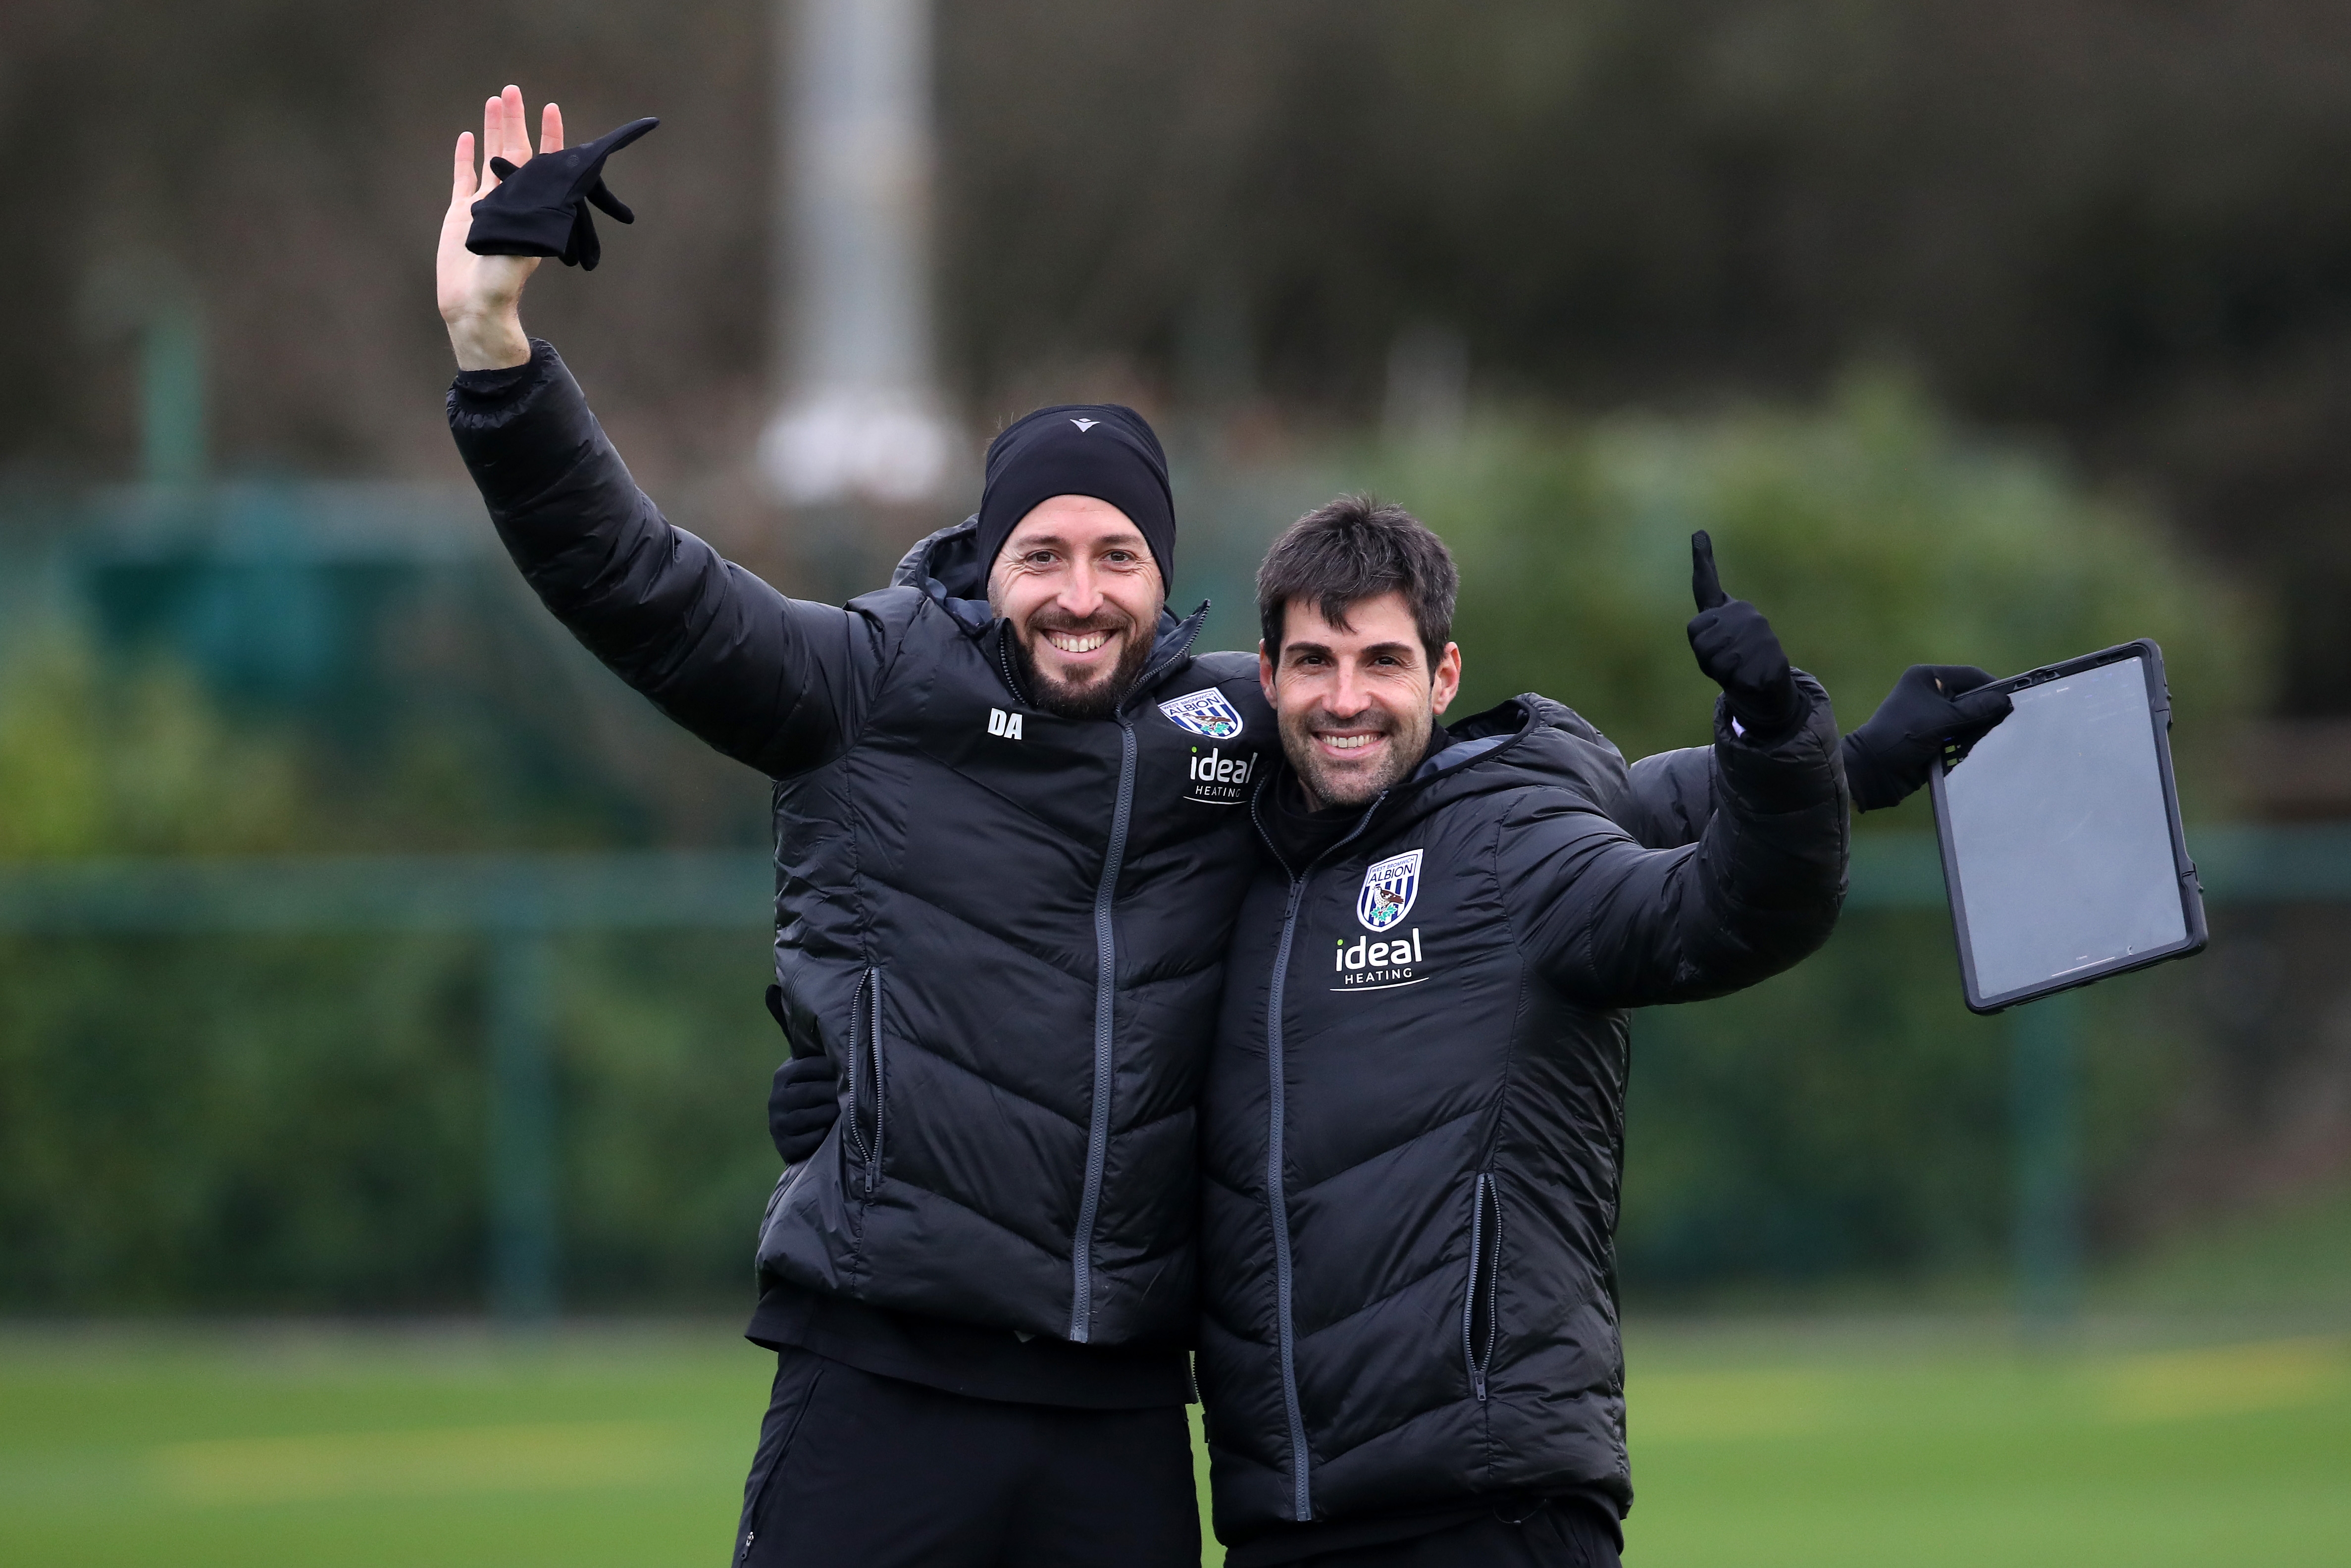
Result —
M0 679L0 863L576 842L463 729L350 766L68 630ZM487 961L463 938L0 938L0 1309L468 1309ZM710 1305L773 1180L766 938L557 945L574 1305Z

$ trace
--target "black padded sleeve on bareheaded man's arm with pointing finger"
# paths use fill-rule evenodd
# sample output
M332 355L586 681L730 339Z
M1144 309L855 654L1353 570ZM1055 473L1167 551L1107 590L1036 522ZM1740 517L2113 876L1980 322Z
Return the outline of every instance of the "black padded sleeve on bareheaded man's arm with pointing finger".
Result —
M1756 745L1716 710L1712 811L1695 842L1646 849L1625 825L1531 792L1502 825L1505 900L1538 969L1585 1006L1700 1001L1789 969L1846 898L1846 771L1827 693Z

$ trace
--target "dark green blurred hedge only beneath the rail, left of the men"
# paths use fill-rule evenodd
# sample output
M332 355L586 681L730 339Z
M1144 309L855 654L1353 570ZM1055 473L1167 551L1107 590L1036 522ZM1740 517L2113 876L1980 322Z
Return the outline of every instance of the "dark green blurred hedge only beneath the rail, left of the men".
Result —
M569 1307L748 1288L764 957L757 929L557 945ZM0 940L0 1309L477 1309L484 1016L458 938Z

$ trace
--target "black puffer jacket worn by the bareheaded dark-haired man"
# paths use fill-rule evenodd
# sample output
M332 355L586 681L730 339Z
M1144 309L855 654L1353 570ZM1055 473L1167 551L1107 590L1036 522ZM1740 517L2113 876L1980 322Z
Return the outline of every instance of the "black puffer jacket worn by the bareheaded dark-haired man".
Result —
M1476 1497L1632 1505L1625 1009L1751 985L1836 924L1843 769L1806 691L1789 738L1719 717L1712 766L1676 752L1639 780L1516 698L1312 865L1258 875L1201 1103L1227 1544Z

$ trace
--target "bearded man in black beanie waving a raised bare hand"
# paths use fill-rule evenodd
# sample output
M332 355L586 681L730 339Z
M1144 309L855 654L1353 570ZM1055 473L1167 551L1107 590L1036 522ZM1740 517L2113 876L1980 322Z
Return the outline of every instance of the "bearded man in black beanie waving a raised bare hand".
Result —
M524 167L522 129L510 87L480 153ZM1164 609L1159 442L1039 409L889 588L788 599L670 527L522 334L538 256L468 249L470 141L437 280L498 538L773 780L771 1128L816 1135L778 1140L759 1229L776 1385L734 1561L1197 1568L1192 1107L1274 726L1255 658Z

